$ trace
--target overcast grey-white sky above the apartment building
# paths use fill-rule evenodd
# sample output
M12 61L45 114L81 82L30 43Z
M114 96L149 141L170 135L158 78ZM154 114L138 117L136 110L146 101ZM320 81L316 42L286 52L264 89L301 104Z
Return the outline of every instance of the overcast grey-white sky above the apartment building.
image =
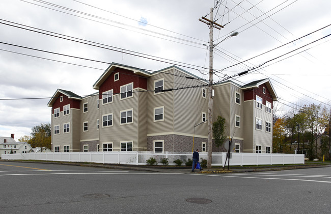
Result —
M321 38L331 34L331 26L327 26L331 24L331 1L220 2L214 10L214 20L224 28L214 29L214 44L232 32L239 34L216 46L213 68L219 72L214 81L267 62L233 81L244 85L270 78L280 104L287 109L294 104L330 103L331 36ZM2 0L1 3L2 137L14 133L18 140L30 135L33 126L50 123L47 102L58 88L80 96L95 93L93 84L112 62L151 71L175 64L208 78L209 28L199 18L209 19L210 8L214 8L216 1ZM317 32L291 42L314 31ZM105 48L64 38L83 39ZM265 53L269 50L272 51ZM248 61L232 66L245 60Z

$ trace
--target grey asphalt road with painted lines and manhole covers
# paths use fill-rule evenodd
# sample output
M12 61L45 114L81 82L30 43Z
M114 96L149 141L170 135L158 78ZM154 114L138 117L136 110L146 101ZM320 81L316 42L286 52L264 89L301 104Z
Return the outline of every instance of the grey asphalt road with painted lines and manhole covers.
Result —
M0 162L0 213L330 213L331 168L155 173Z

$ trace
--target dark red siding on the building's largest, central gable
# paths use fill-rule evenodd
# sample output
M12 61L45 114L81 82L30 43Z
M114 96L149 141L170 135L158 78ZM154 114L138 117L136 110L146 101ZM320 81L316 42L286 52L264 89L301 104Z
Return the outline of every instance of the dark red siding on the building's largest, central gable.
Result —
M119 80L114 82L115 73L119 73ZM102 83L99 88L99 99L102 99L102 93L113 89L113 93L121 92L120 87L133 82L133 88L142 88L147 90L147 78L134 74L123 68L116 68L111 75Z

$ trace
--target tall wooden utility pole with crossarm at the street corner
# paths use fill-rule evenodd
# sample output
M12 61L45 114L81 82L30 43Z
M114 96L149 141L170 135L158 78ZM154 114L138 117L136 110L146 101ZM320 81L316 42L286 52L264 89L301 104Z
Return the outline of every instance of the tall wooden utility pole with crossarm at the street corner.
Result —
M222 25L213 21L213 8L210 8L210 19L201 17L200 21L209 25L209 95L208 95L208 151L207 151L207 168L211 169L211 152L212 152L212 125L213 125L213 28L223 28Z

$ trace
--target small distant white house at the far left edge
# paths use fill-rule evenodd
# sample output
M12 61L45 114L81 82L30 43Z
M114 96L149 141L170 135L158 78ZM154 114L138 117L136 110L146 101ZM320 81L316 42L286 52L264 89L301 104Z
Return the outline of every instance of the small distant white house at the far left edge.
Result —
M0 154L26 153L31 149L30 144L26 142L16 142L14 134L11 135L11 138L0 137Z

